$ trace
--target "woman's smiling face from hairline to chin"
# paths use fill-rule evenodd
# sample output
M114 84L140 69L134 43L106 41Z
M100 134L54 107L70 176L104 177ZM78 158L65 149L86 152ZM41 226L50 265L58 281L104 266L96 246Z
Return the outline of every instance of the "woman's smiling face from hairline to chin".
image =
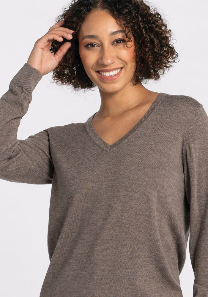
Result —
M109 12L94 10L79 31L79 54L88 77L106 93L115 93L133 86L135 46L127 40Z

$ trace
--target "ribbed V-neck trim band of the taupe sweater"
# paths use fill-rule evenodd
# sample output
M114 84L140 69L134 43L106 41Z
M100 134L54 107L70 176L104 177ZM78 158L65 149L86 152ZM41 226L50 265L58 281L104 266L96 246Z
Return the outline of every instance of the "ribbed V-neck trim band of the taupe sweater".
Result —
M165 97L165 95L166 95L166 93L159 93L157 98L155 99L155 101L153 101L150 108L147 110L147 112L144 114L144 116L138 121L138 123L135 124L135 126L132 129L130 129L130 131L127 132L122 138L120 138L119 140L117 140L115 143L113 143L111 145L109 143L105 142L97 134L96 130L94 129L94 127L92 125L92 119L97 112L94 113L92 116L90 116L89 119L87 119L86 122L84 123L86 130L98 146L103 148L105 151L109 152L112 149L114 149L116 146L118 146L120 143L122 143L125 139L127 139L132 133L134 133L138 129L139 126L141 126L141 124L149 117L149 115L152 113L152 111L155 109L155 107L158 105L158 103L161 101L161 99L163 99L163 97Z

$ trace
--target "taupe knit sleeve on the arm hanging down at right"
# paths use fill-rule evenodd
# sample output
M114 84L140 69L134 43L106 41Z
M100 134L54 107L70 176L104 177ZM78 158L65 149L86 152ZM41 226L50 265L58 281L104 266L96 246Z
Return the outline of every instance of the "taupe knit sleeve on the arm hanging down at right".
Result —
M185 192L190 207L193 297L208 297L208 116L200 104L185 149Z

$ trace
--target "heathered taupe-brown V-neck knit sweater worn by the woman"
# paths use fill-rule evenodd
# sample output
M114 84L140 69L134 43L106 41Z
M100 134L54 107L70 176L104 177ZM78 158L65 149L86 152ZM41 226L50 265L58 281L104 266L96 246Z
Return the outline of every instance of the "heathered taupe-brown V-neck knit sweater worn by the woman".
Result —
M24 64L0 99L0 178L52 184L40 297L182 297L189 234L193 297L208 297L203 105L160 93L113 145L95 131L94 115L18 140L41 78Z

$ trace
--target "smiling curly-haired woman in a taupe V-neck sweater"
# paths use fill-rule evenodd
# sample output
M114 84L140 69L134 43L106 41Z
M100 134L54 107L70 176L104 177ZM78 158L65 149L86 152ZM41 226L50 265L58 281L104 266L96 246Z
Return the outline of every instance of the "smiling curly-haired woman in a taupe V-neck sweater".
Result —
M208 117L196 99L142 85L176 61L170 30L139 0L77 0L57 20L0 99L0 177L52 184L40 297L181 297L189 233L193 296L205 296ZM51 71L97 86L100 109L17 140Z

